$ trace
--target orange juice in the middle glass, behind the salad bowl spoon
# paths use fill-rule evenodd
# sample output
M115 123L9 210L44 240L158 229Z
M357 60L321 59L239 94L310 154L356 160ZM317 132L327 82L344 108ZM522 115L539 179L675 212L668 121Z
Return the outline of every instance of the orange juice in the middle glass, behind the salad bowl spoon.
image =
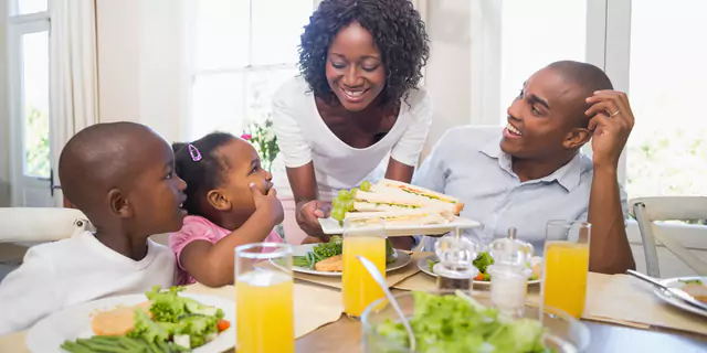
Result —
M363 309L384 296L376 280L356 257L361 255L376 264L386 276L386 238L376 236L344 237L344 268L341 295L344 311L350 317L360 317Z

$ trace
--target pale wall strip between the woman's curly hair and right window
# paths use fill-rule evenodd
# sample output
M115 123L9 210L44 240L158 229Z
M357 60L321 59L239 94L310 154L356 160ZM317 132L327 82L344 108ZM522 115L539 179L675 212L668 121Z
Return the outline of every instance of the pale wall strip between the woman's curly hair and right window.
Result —
M430 61L425 86L434 101L434 124L423 158L449 128L469 122L472 97L471 1L426 1Z

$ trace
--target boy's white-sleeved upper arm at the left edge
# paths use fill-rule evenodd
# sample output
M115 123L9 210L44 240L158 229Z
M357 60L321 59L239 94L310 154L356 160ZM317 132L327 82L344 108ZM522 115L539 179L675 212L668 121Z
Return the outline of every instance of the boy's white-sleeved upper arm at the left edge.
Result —
M52 266L30 249L22 266L0 284L0 335L29 329L62 309L55 296Z

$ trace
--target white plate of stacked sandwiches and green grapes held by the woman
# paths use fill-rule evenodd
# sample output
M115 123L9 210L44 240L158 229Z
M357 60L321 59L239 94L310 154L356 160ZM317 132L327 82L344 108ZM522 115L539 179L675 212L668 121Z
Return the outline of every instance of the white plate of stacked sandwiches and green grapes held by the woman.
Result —
M325 234L342 234L346 220L383 218L386 235L442 235L456 228L479 227L478 222L460 217L464 203L458 199L421 186L383 179L365 181L360 188L341 190L328 218L320 218Z

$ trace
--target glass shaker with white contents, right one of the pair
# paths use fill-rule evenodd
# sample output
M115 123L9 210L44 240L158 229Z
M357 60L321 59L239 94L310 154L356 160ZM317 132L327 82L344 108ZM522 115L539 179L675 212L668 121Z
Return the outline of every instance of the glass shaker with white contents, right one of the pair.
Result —
M525 309L532 245L516 238L516 228L508 229L508 237L490 244L494 265L486 271L490 275L490 300L503 314L520 317Z

